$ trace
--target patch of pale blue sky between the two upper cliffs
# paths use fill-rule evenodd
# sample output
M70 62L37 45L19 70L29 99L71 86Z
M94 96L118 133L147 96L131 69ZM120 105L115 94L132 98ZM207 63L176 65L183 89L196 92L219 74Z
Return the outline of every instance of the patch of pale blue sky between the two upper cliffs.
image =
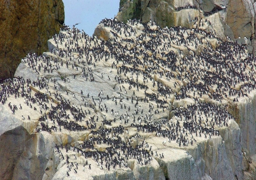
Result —
M92 36L94 29L102 19L114 18L118 12L120 0L62 0L65 6L65 24L84 30Z

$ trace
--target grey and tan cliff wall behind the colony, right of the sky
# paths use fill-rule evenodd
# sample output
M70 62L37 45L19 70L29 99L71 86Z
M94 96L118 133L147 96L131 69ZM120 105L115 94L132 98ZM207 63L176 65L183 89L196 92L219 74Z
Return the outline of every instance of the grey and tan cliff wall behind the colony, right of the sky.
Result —
M140 6L139 6L140 4ZM195 21L207 19L212 16L213 21L207 31L214 30L218 36L225 40L226 36L232 40L247 38L245 42L250 53L255 49L255 3L250 0L171 0L171 1L122 1L121 10L116 18L126 22L137 18L142 22L155 21L160 27L182 26L187 28L201 28ZM139 6L139 7L137 7ZM195 19L197 17L197 19ZM255 53L254 53L255 54Z

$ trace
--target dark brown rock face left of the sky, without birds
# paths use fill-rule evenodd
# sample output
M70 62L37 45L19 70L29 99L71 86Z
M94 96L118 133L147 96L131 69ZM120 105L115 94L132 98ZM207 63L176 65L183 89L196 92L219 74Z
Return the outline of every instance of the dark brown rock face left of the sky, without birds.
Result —
M20 59L42 54L64 22L61 0L0 1L0 79L13 76Z

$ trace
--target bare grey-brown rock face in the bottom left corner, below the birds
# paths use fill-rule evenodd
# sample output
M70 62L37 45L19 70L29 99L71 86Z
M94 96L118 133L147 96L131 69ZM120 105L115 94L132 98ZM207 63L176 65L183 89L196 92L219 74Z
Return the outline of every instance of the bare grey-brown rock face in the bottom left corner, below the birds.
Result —
M1 179L42 179L53 156L54 140L49 133L30 134L18 126L0 136Z

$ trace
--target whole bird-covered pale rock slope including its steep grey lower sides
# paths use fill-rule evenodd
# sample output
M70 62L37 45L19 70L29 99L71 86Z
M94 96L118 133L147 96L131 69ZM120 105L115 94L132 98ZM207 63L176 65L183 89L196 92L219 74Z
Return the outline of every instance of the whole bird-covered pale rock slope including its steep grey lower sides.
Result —
M253 178L244 46L135 20L94 35L62 28L2 82L2 179Z

